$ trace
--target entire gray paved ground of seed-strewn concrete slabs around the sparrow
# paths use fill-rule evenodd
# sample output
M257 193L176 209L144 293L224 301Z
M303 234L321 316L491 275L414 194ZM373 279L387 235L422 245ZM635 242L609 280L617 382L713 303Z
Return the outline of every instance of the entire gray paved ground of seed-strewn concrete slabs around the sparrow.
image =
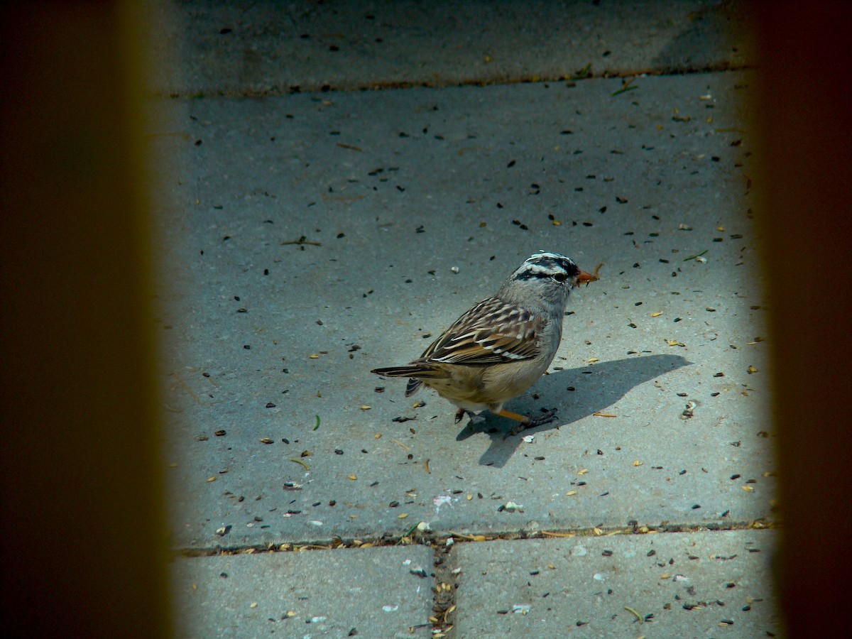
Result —
M512 40L528 28L527 36L561 47L567 65L581 68L590 61L576 61L588 57L586 41L553 40L560 29L584 24L612 38L607 59L624 51L633 60L627 66L684 70L700 51L703 71L493 83L504 76L442 54L464 81L309 92L304 87L325 83L370 85L365 78L422 83L418 73L443 62L429 66L406 55L424 55L418 37L453 36L437 13L429 23L412 18L418 11L443 8L453 28L470 37L486 38L477 26L486 23L442 3L312 4L295 22L292 6L172 7L177 17L167 35L175 37L165 42L181 49L168 79L177 84L166 92L176 97L153 99L159 119L152 139L161 176L156 293L165 473L171 543L181 553L178 618L187 636L345 636L351 627L360 636L394 636L427 623L440 579L452 586L435 595L435 610L452 605L456 587L458 599L448 621L436 624L439 635L451 624L455 636L507 629L560 636L557 626L577 636L778 631L766 564L773 536L753 528L772 521L776 508L767 304L752 219L750 86L757 76L722 70L734 64L731 47L746 44L735 39L736 29L711 37L716 32L706 26L721 28L719 16L727 16L741 28L743 12L735 3L648 3L645 11L619 3L607 14L594 3L546 5L563 11L550 20L554 37L510 10L499 12L501 24L487 21L488 30ZM327 63L319 72L288 53L320 33L366 37L360 26L347 31L344 18L378 17L379 9L396 16L376 20L394 37L400 16L417 29L411 38L387 36L398 55L371 58L378 70ZM495 15L481 10L479 20ZM630 11L644 21L625 21ZM283 37L279 26L287 20L312 36ZM232 31L211 35L216 25ZM678 41L687 25L697 38L691 48ZM623 37L627 32L634 39ZM239 56L229 57L218 38L232 35L244 49L261 50L262 63L239 66ZM551 54L517 42L509 58L542 66L504 75L565 75L547 66ZM664 50L676 63L661 65ZM639 54L650 57L630 57ZM285 58L291 66L276 66ZM401 76L383 65L399 65ZM332 71L351 83L324 75ZM291 84L302 92L274 89ZM512 437L505 437L511 424L499 417L457 425L453 407L435 394L406 400L404 383L370 374L412 360L542 249L572 256L586 270L602 264L600 281L572 295L549 374L507 406L527 414L555 407L556 423ZM607 536L625 531L652 534ZM569 561L578 542L522 538L543 532L576 533L583 544L588 535L602 536L588 538L595 549L588 558ZM513 540L459 543L447 553L451 536ZM421 544L382 545L400 537ZM218 554L364 541L377 547ZM763 552L751 552L753 542ZM603 550L613 554L602 556L598 545L607 543L614 545ZM682 558L692 543L700 561ZM629 561L655 548L680 557L686 567L678 570L691 581L661 579L671 571L650 560ZM394 577L401 556L429 563L423 552L438 576L424 565L429 579ZM507 553L516 565L506 563ZM526 568L560 553L548 560L558 570ZM708 558L714 553L738 559ZM233 568L217 567L225 565ZM389 579L373 574L382 565ZM456 580L449 566L463 577ZM544 614L535 602L527 614L494 613L522 603L524 575L534 569L538 582L556 580L544 589L553 590L552 611ZM488 570L509 573L498 585L474 577ZM716 592L726 570L734 581L749 575L750 596L763 599L748 614L661 607L692 586L696 600L709 598L702 593ZM611 586L596 589L589 571L611 573L623 591L617 617L604 613L612 607L607 596L596 595ZM568 596L564 584L573 573L588 587ZM346 590L365 580L383 583ZM190 582L199 596L193 590L187 598ZM317 607L288 607L293 584ZM400 614L371 617L397 590ZM623 606L640 608L628 592L645 612L653 610L653 623L630 625L635 616ZM229 603L237 595L239 603ZM260 608L262 597L271 602L263 611L243 605L252 600ZM336 598L340 614L323 612ZM738 599L736 610L745 605ZM295 619L280 619L283 607L301 624L326 620L293 630ZM348 619L354 621L344 629ZM540 635L529 634L538 632L527 626L534 619ZM734 623L718 625L726 619Z

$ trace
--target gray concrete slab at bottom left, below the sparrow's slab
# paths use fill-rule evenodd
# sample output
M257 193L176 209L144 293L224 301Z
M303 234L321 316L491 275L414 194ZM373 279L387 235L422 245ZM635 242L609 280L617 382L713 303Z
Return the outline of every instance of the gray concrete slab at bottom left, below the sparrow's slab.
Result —
M176 636L430 636L432 562L422 546L176 559Z

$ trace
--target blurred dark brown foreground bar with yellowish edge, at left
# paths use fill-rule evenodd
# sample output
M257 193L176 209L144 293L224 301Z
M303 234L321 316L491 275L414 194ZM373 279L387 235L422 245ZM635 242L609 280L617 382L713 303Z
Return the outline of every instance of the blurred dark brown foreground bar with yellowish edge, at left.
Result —
M140 6L0 6L4 636L170 636Z

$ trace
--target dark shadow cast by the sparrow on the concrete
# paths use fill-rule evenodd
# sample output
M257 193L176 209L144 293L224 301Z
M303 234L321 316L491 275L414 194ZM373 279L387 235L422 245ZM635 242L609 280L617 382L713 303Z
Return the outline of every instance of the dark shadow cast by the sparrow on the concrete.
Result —
M548 398L558 398L556 401L546 401L548 408L556 407L558 411L556 421L521 431L518 435L506 436L509 429L516 424L485 411L481 413L484 421L468 422L456 435L456 440L466 440L479 433L488 435L491 437L491 446L482 453L479 463L483 466L503 468L517 450L521 437L524 435L567 426L583 417L601 412L639 384L690 364L692 362L680 355L658 354L605 361L594 366L552 372L538 380L532 390ZM573 387L573 392L567 390L569 386ZM555 403L556 406L554 406ZM511 406L513 404L514 407ZM509 402L507 409L535 416L538 414L539 407L535 405L532 397L524 395L523 398Z

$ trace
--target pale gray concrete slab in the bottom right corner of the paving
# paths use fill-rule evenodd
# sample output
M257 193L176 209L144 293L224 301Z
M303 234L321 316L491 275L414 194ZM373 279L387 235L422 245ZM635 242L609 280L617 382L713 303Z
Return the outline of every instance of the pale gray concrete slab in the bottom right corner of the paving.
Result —
M777 636L774 537L728 531L459 544L452 551L462 567L454 631L542 639Z

